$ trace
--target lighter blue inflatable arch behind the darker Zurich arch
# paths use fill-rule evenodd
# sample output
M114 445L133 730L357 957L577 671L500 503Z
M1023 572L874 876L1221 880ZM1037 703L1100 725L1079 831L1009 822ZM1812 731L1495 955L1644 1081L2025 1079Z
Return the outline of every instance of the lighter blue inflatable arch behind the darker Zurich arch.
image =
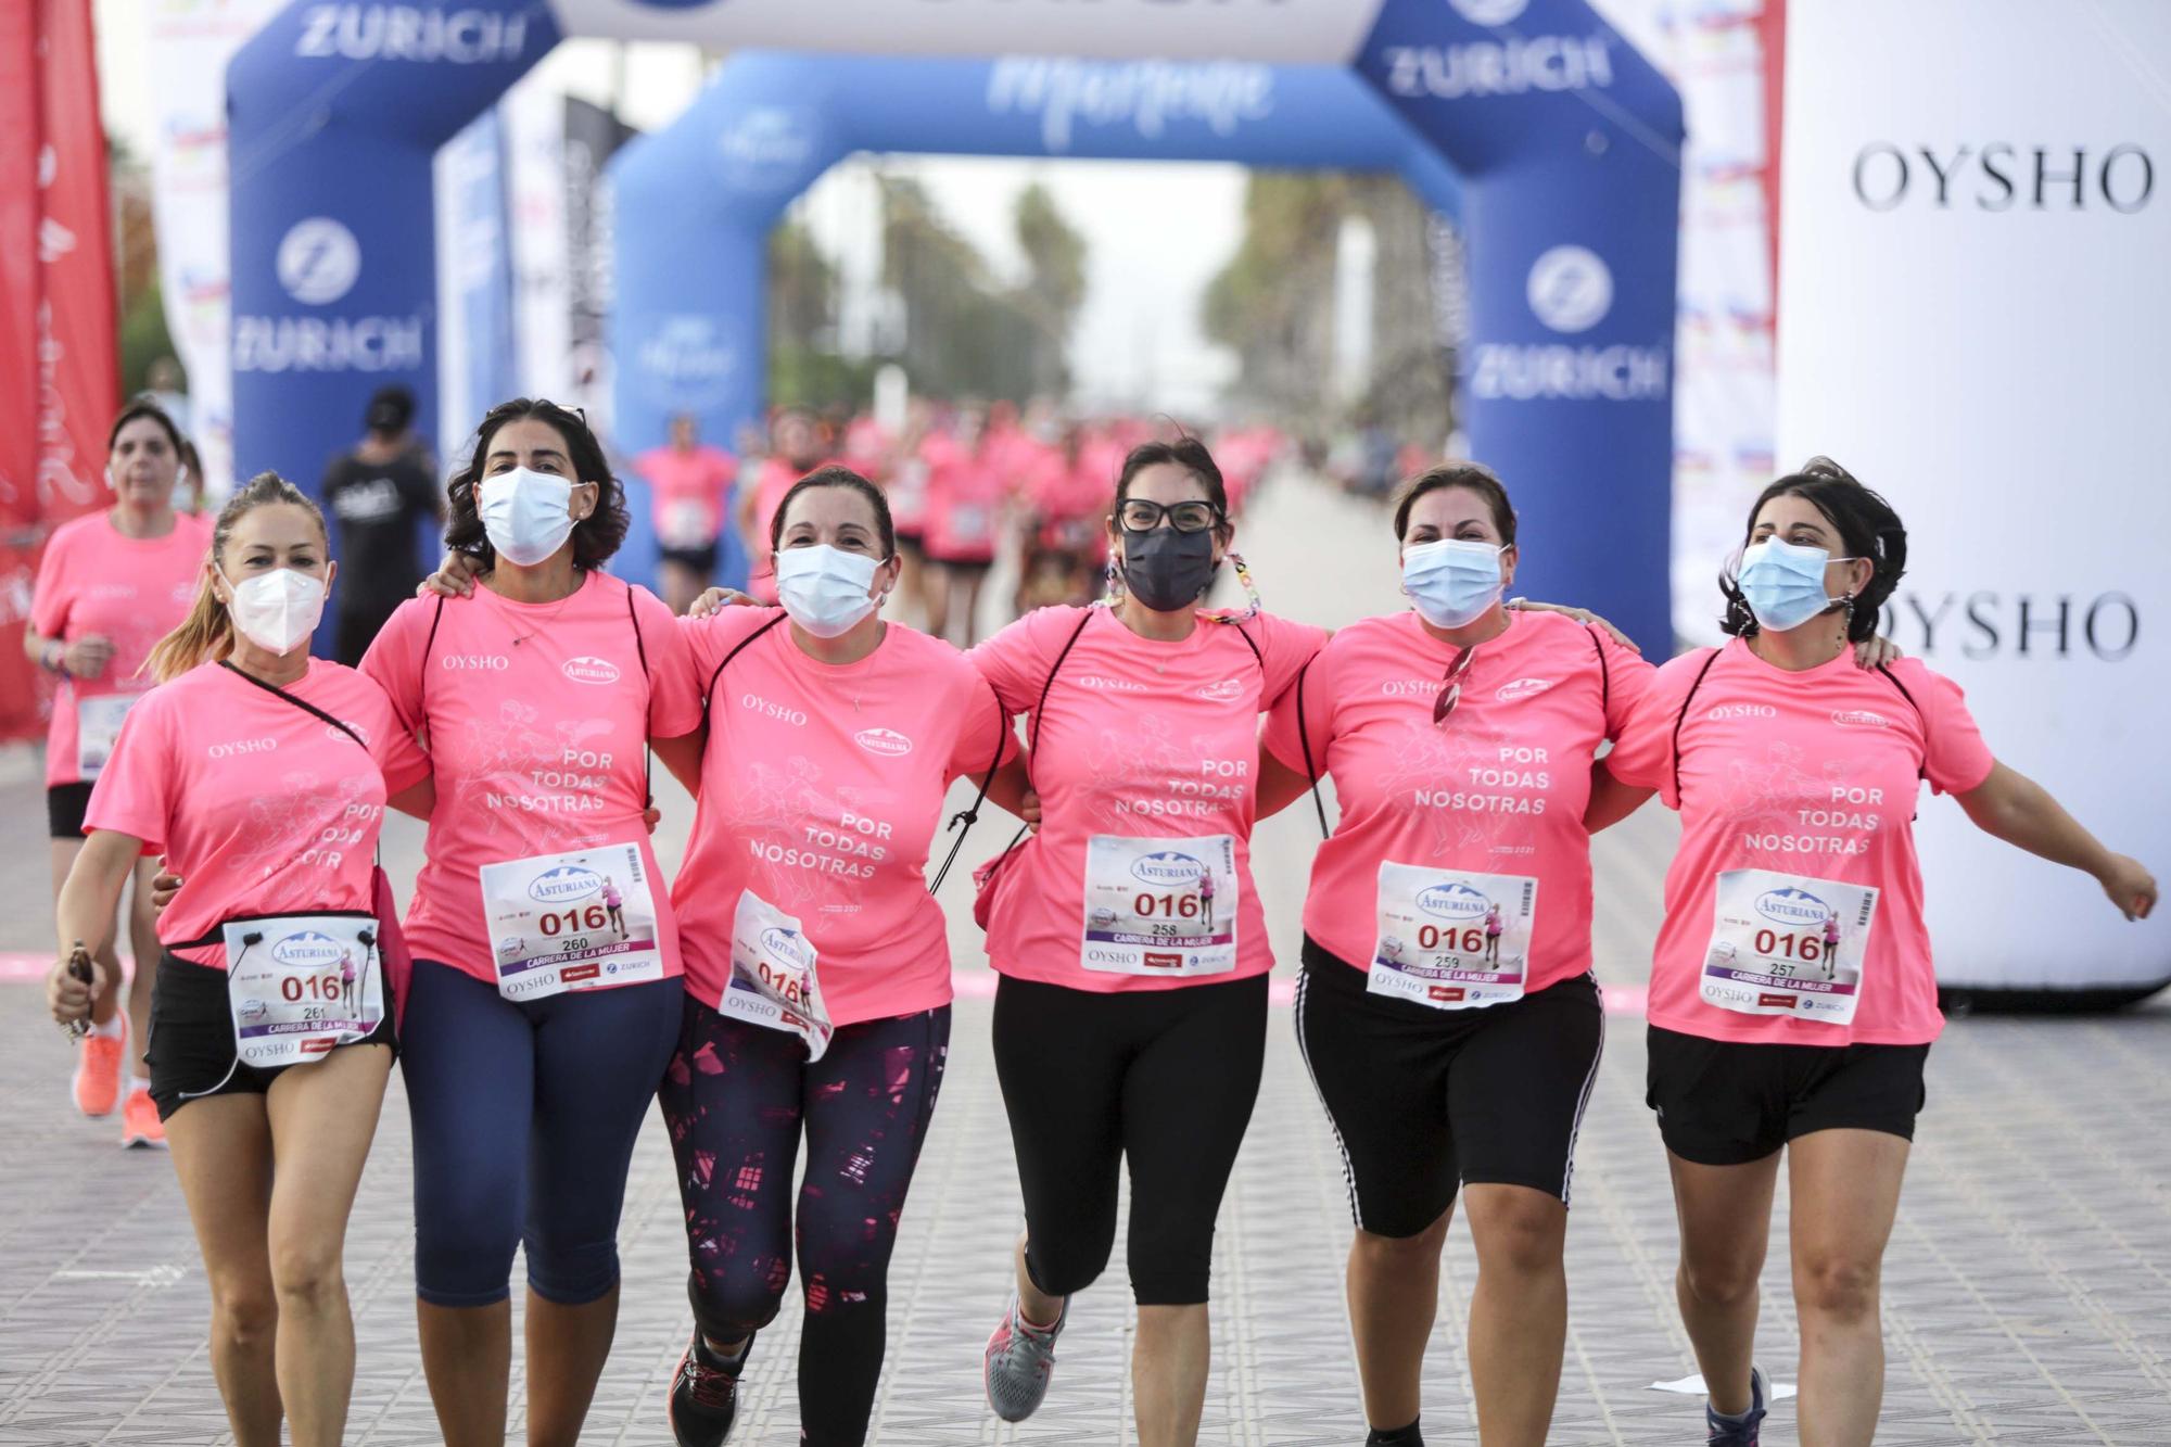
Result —
M740 52L610 165L621 439L660 443L673 413L697 415L712 439L762 417L769 232L862 150L1387 172L1433 211L1461 209L1439 152L1340 65ZM621 571L638 576L653 537L645 506L632 513Z

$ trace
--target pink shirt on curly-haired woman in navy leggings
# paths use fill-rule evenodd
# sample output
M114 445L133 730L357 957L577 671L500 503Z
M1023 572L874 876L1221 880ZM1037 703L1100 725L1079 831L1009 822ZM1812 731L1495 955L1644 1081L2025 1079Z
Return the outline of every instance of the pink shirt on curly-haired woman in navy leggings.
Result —
M640 615L640 647L627 593ZM671 611L647 589L586 574L571 597L517 604L410 597L363 656L402 726L423 737L436 773L428 863L415 878L406 941L497 984L482 915L482 867L610 843L638 843L660 880L643 810L647 741L701 726L701 700ZM436 639L430 639L432 621ZM428 645L428 656L423 647ZM680 973L677 921L653 889L664 973Z

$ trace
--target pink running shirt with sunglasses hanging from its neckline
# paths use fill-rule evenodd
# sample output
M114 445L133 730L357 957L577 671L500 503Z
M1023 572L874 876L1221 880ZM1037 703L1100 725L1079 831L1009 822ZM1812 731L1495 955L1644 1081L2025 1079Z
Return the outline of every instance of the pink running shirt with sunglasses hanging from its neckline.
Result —
M1478 645L1442 724L1433 700L1457 650L1415 613L1340 630L1305 674L1311 763L1342 804L1311 860L1305 934L1344 965L1372 967L1379 867L1392 860L1535 878L1526 993L1591 967L1591 752L1620 734L1656 669L1604 628L1509 619ZM1296 689L1268 717L1266 747L1305 771Z

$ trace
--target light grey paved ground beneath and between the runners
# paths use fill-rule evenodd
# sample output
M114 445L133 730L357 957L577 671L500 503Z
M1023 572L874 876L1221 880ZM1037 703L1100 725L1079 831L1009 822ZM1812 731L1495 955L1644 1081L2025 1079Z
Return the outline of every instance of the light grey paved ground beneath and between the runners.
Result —
M1392 543L1370 508L1292 480L1253 524L1244 541L1274 606L1318 621L1394 606ZM1329 558L1337 574L1381 567L1350 587L1322 576ZM673 800L666 858L686 817ZM992 821L981 828L970 858L1007 836ZM1259 886L1283 958L1294 956L1307 828L1292 810L1259 836ZM1598 956L1617 999L1641 980L1669 836L1669 819L1650 815L1600 839ZM0 889L17 904L0 915L0 952L50 947L43 850L35 776L20 758L0 763ZM391 854L395 873L412 871L415 832L402 830ZM960 969L981 971L977 932L957 910L964 895L955 882L947 893L957 895L947 904ZM1120 1282L1079 1299L1040 1417L1010 1430L981 1404L979 1347L1016 1228L986 1036L988 1002L960 999L949 1084L894 1262L875 1440L1127 1440ZM0 984L0 1099L13 1104L0 1115L0 1447L226 1443L202 1347L204 1282L172 1171L161 1156L113 1149L113 1121L74 1117L65 1069L37 989ZM1576 1171L1561 1445L1702 1440L1693 1399L1648 1391L1693 1367L1674 1317L1674 1217L1641 1071L1639 1026L1617 1015ZM397 1080L393 1095L347 1243L360 1336L352 1438L423 1445L439 1438L415 1349ZM1277 1019L1216 1245L1207 1443L1363 1440L1342 1308L1346 1241L1333 1145ZM588 1440L666 1443L662 1388L688 1323L677 1195L653 1119L623 1254L625 1317ZM1476 1440L1461 1349L1472 1273L1457 1230L1426 1388L1435 1443ZM1765 1299L1761 1354L1791 1380L1785 1249ZM2112 1019L1954 1023L1930 1056L1930 1110L1887 1258L1884 1332L1884 1443L2171 1443L2171 1004ZM762 1336L734 1443L797 1440L795 1336L795 1310ZM1791 1408L1774 1412L1765 1440L1795 1440Z

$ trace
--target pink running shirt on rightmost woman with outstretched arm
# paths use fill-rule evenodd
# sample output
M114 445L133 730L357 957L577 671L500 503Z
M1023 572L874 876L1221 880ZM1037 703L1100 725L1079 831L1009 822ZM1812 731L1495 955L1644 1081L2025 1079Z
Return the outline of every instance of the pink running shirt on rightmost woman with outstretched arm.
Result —
M1711 671L1696 684L1706 663ZM1789 674L1732 639L1715 660L1698 650L1661 667L1607 758L1615 778L1656 789L1680 810L1680 850L1665 871L1665 923L1652 954L1650 1023L1776 1045L1934 1041L1945 1017L1921 919L1915 804L1924 778L1939 793L1967 793L1993 763L1958 684L1915 658L1891 665L1891 678L1854 667L1852 652ZM1728 869L1878 889L1850 1026L1741 1015L1702 999L1713 891Z

